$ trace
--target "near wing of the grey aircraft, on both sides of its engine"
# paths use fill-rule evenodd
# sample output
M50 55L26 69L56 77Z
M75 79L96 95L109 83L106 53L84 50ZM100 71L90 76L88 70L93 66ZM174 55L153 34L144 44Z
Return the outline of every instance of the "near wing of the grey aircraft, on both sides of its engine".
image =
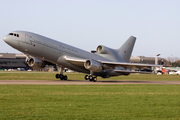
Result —
M83 59L83 58L76 58L76 57L69 57L65 56L64 57L68 62L78 65L78 66L84 66L84 63L88 59ZM97 62L101 63L102 66L106 65L112 68L115 67L123 67L125 69L127 68L149 68L149 67L162 67L162 65L154 65L154 64L141 64L141 63L126 63L126 62L110 62L110 61L101 61L97 60ZM122 71L123 72L123 71ZM130 71L132 72L132 71Z

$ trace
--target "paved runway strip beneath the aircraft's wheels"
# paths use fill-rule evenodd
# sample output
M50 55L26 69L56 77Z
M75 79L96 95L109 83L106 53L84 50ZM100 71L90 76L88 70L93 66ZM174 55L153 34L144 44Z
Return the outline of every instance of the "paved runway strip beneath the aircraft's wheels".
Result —
M180 81L97 81L82 80L0 80L0 85L112 85L112 84L167 84L180 85Z

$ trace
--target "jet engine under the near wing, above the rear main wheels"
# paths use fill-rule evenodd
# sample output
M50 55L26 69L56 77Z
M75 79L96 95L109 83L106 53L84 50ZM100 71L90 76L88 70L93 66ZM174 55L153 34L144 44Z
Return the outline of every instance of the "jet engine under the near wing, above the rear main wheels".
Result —
M100 72L102 70L101 63L95 61L95 60L87 60L84 63L84 67L88 70L91 70L93 72Z

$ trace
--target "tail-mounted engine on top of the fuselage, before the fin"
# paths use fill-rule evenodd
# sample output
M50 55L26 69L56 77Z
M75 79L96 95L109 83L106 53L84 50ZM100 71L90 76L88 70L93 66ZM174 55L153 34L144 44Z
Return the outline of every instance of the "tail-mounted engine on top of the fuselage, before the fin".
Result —
M106 46L103 45L99 45L96 49L96 52L99 54L112 54L113 53L113 49L108 48Z

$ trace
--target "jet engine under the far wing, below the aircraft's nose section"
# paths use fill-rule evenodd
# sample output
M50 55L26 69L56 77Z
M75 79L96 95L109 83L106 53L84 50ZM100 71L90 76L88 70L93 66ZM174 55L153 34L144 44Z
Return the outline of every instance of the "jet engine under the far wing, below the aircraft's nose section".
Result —
M27 64L32 67L32 68L35 68L35 69L42 69L45 67L45 62L42 61L42 60L39 60L35 57L32 57L30 58L28 61L27 61Z

